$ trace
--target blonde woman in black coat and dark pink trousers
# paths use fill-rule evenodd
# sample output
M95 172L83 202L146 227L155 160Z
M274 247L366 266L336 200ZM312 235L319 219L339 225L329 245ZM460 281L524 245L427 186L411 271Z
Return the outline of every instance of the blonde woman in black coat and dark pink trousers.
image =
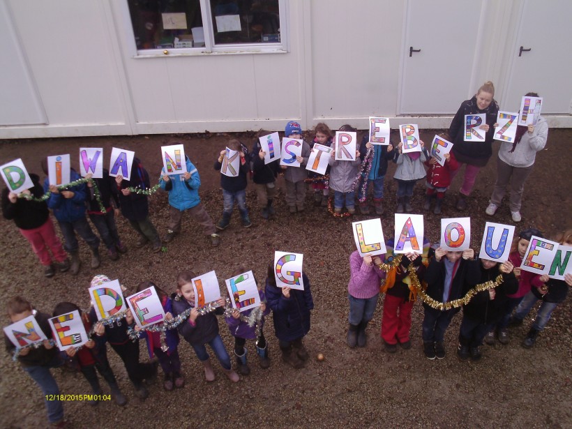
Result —
M499 112L499 105L493 98L494 96L495 86L490 81L485 82L473 98L461 103L449 127L449 137L453 142L452 151L459 162L459 170L463 164L466 164L465 177L459 190L458 210L467 208L465 198L471 194L476 175L492 156L492 137L495 133L493 124L497 121ZM484 142L464 141L465 115L467 114L486 114L486 123L479 126L479 129L486 133ZM459 170L451 172L451 179L457 175Z

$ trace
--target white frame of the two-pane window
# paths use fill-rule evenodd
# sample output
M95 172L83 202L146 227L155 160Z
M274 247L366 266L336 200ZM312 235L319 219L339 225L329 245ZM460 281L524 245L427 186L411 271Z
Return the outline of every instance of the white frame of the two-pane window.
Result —
M204 29L204 47L180 47L167 49L137 50L135 31L129 11L128 0L120 3L121 26L126 32L129 51L133 58L192 57L220 54L285 54L289 52L289 0L278 0L280 11L280 42L278 43L232 43L216 45L214 43L214 23L211 14L211 1L199 0Z

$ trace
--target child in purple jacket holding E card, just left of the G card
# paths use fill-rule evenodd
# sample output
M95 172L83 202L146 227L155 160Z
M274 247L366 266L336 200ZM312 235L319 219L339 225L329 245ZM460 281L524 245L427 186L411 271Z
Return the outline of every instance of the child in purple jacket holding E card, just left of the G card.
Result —
M238 276L243 273L244 270L239 270L234 273L233 276ZM232 316L225 317L225 320L230 330L231 335L234 337L234 354L236 356L236 365L238 370L242 375L250 374L250 368L248 368L248 363L246 363L246 340L256 339L255 346L256 352L260 359L260 368L266 369L270 366L270 359L268 358L268 343L266 343L266 338L264 338L264 332L262 328L264 327L264 317L269 315L270 308L266 306L266 296L264 291L258 290L258 295L260 296L260 309L249 308L242 313L239 310L234 309ZM241 320L241 314L244 317L249 317L253 311L262 311L262 317L260 319L259 326L253 324L250 326L248 322Z

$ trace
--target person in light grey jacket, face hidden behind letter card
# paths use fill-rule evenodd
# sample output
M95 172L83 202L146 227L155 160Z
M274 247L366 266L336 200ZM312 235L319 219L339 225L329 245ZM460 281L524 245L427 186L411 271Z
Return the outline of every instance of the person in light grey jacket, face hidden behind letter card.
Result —
M526 94L528 97L538 97L534 92ZM519 125L513 143L502 143L497 159L497 182L490 197L490 204L486 209L489 216L494 215L499 208L506 187L511 182L511 197L509 208L514 222L520 222L520 205L525 181L534 167L536 152L544 149L548 138L548 123L539 116L536 124L528 126Z

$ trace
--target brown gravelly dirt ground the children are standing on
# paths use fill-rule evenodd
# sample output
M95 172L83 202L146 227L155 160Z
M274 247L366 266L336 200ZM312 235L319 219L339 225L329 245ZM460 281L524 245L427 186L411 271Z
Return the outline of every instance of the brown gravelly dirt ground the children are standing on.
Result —
M426 142L434 132L422 132ZM234 135L233 135L234 136ZM252 146L253 134L237 135L247 146ZM570 227L569 195L571 181L566 179L566 165L571 165L568 142L571 130L550 130L547 149L536 158L534 172L525 188L522 206L522 227L534 226L551 235ZM112 146L137 153L156 183L161 168L160 146L181 141L201 179L202 201L213 219L222 211L222 195L218 189L220 176L213 170L218 152L224 148L229 135L150 135L135 137L86 137L82 139L17 140L0 144L0 163L22 158L30 172L40 171L40 160L47 155L71 153L77 167L78 148L103 147L110 153ZM496 146L496 144L495 144ZM386 236L393 230L393 210L396 206L395 166L386 176L383 227ZM488 216L484 209L492 192L496 176L496 154L477 179L474 194L464 213L472 218L472 243L478 248ZM460 176L446 195L442 216L424 213L426 234L437 241L440 218L458 216L453 208ZM520 347L531 317L524 326L511 331L511 344L483 347L480 363L461 363L454 354L460 315L456 316L446 335L448 355L443 361L428 361L421 350L421 319L419 303L414 306L412 342L409 350L387 354L379 338L382 299L375 319L368 329L369 344L365 349L348 349L345 345L347 324L348 255L352 248L350 225L352 219L337 219L324 209L315 208L308 195L305 213L289 216L282 190L276 201L277 216L266 221L259 214L255 192L248 188L248 205L253 227L243 229L238 213L223 232L219 248L211 248L202 232L188 217L183 218L183 233L167 246L165 253L155 255L149 248L135 248L137 237L123 218L118 220L119 233L129 248L118 262L103 257L102 266L92 271L86 266L89 253L83 244L84 261L78 276L58 274L52 279L43 277L29 244L15 225L0 220L2 276L0 287L3 299L15 294L27 296L40 310L51 312L61 300L75 301L88 308L86 292L96 273L119 278L133 290L142 280L153 280L172 290L176 273L192 268L197 272L216 269L219 279L228 278L239 262L253 269L259 283L264 282L266 264L273 250L291 250L305 255L305 270L312 284L315 310L312 329L306 345L312 356L323 353L326 359L308 361L306 368L292 370L280 361L278 342L273 336L271 319L266 324L269 339L271 368L257 366L254 346L247 343L252 369L248 377L231 384L216 367L217 380L207 384L190 346L181 341L179 352L186 375L186 386L165 392L160 378L150 386L151 396L145 402L137 400L121 361L110 350L108 353L128 405L119 409L112 402L89 407L84 402L66 402L66 416L77 428L141 428L165 423L173 427L210 428L232 425L249 427L571 427L572 379L569 321L572 316L571 299L567 299L552 315L547 329L539 337L534 349ZM415 188L413 206L421 210L424 187ZM160 234L167 229L168 204L165 193L150 199L151 218ZM372 216L371 216L372 217ZM356 216L361 219L362 216ZM495 221L511 224L509 209L502 206ZM520 228L519 226L518 228ZM531 313L531 314L534 314ZM8 324L6 317L3 324ZM232 338L220 319L220 331L227 349L232 351ZM146 359L146 347L141 343L141 356ZM45 424L43 399L31 379L8 356L0 360L0 426L4 428L42 427ZM89 393L82 375L55 370L62 393ZM108 392L107 386L103 386Z

